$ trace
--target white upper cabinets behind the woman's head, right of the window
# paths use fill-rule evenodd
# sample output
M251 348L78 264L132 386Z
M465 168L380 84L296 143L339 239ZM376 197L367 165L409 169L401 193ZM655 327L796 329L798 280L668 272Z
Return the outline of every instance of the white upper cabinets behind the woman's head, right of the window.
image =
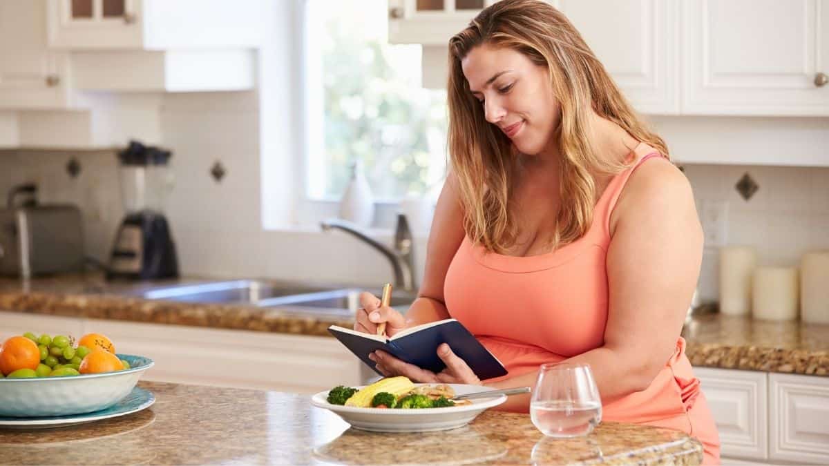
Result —
M829 0L547 1L643 113L829 115ZM444 86L448 39L491 3L390 0L389 40Z

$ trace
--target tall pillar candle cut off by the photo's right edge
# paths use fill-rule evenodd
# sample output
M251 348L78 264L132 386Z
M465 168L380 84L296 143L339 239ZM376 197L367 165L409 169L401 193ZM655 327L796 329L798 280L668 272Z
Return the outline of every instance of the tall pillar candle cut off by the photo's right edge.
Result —
M829 250L804 254L800 273L803 322L829 323Z

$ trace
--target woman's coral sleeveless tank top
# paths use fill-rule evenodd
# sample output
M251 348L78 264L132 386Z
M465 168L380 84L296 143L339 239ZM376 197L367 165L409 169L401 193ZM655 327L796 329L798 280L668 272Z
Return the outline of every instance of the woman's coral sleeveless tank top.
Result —
M592 225L579 240L543 255L510 256L486 253L464 238L446 274L446 307L507 367L509 375L501 379L604 344L610 214L631 173L661 157L650 150L611 179L595 206ZM678 337L676 352L651 385L605 403L602 417L651 423L681 416L681 423L688 423L683 430L690 431L686 413L699 392L685 340Z

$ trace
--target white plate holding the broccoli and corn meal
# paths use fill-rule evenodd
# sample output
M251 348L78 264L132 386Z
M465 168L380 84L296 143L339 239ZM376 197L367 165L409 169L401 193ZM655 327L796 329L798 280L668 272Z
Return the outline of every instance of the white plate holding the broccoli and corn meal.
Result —
M494 390L478 385L449 384L449 386L453 388L455 395ZM500 405L507 400L506 395L498 395L492 396L492 398L470 400L472 401L471 405L401 410L332 405L327 402L327 397L328 391L321 391L311 398L311 403L318 408L331 410L355 429L374 432L428 432L431 430L457 429L472 422L484 410Z

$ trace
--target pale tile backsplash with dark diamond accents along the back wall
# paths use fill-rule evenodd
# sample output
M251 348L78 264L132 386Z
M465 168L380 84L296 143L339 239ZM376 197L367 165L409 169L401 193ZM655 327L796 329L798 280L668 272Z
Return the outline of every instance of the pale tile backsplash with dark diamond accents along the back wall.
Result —
M238 121L239 116L234 118ZM176 187L168 213L183 273L341 281L347 276L351 283L366 284L389 277L385 260L347 235L323 235L313 229L262 231L255 147L245 151L248 156L223 158L228 176L216 183L209 174L213 161L201 153L216 153L213 148L200 143L191 150L177 138L171 143ZM234 149L238 148L220 152ZM77 177L66 170L73 157L80 161ZM829 168L685 165L684 169L697 210L702 213L706 203L727 203L725 243L753 245L761 264L797 265L803 252L829 249ZM748 201L735 187L745 173L759 185ZM0 151L0 193L30 181L39 184L41 201L81 206L87 251L105 260L123 215L114 152ZM422 268L425 243L419 243ZM706 246L699 284L704 301L717 297L717 268L717 249Z

